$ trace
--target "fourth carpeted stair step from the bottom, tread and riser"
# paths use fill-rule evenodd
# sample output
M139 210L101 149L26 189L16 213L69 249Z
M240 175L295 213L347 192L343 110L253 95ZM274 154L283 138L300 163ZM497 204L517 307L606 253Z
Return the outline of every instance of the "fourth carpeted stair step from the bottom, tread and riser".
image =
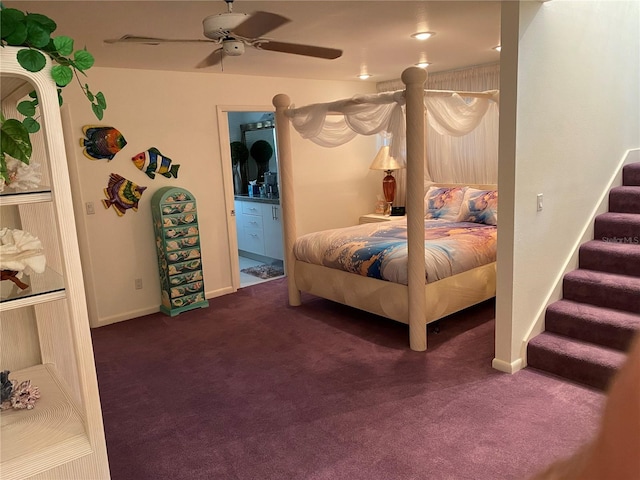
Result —
M578 258L580 268L587 270L640 275L640 244L591 240L580 246Z

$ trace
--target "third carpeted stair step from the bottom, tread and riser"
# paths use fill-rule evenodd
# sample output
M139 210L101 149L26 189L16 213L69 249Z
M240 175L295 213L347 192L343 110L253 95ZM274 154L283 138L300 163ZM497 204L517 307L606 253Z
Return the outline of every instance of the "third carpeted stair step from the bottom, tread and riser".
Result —
M564 276L562 292L574 302L640 313L640 277L579 268Z

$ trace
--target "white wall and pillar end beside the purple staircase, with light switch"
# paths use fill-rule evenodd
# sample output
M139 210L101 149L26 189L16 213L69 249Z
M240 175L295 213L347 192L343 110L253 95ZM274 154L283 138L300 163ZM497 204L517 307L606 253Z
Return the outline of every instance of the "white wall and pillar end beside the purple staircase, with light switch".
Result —
M502 15L502 69L515 74L516 62L517 91L503 77L501 108L517 113L501 110L494 366L514 371L626 151L640 147L640 2L503 2Z

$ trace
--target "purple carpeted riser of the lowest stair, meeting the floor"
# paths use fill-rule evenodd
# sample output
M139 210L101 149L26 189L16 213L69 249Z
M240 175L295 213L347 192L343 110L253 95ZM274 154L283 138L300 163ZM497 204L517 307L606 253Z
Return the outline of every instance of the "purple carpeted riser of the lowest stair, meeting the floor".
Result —
M567 378L591 387L606 390L616 368L566 357L558 353L529 345L527 364L532 368Z

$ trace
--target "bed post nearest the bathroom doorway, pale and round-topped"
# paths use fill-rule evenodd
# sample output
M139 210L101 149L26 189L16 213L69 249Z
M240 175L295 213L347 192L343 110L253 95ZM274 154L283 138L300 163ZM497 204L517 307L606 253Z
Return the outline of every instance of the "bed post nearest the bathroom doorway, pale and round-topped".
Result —
M284 234L285 272L289 287L289 305L302 303L300 290L294 278L295 256L293 243L296 241L296 208L293 195L293 159L291 158L291 125L285 111L291 105L291 99L284 94L273 97L276 107L276 143L278 146L278 170L280 170L280 209Z

